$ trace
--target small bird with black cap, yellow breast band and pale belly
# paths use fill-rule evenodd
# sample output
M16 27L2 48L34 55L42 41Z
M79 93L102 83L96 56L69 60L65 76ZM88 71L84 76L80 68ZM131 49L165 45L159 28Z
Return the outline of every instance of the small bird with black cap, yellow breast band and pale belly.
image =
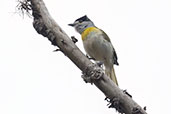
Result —
M119 65L117 55L107 34L97 28L94 23L85 15L69 24L81 34L86 53L100 61L105 66L105 74L118 85L113 64Z

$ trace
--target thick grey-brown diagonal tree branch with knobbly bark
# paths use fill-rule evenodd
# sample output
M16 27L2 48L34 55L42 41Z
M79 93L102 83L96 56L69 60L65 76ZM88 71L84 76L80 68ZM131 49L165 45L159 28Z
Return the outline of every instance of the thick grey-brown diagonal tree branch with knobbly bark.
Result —
M20 1L21 2L21 1ZM50 16L43 0L24 0L31 7L35 30L47 37L52 45L58 46L82 72L83 79L99 88L110 102L109 108L115 108L125 114L147 114L130 95L119 89L99 66L93 64L74 44L68 35ZM24 5L25 6L25 5ZM21 8L22 9L22 8ZM26 10L25 8L23 8ZM26 10L28 11L28 9Z

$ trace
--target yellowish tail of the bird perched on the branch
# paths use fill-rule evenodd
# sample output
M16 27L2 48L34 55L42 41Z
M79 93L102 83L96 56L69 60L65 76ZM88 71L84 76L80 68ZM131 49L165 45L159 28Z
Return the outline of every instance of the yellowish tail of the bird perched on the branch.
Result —
M112 67L112 68L105 68L105 74L107 75L107 76L109 76L110 77L110 79L117 85L117 86L119 86L118 85L118 81L117 81L117 78L116 78L116 75L115 75L115 70L114 70L114 67Z

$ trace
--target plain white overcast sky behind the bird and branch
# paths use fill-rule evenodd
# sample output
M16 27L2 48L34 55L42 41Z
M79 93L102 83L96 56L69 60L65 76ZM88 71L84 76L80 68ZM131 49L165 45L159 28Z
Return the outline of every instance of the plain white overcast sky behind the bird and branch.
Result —
M67 24L87 14L111 38L120 66L121 89L149 114L170 114L170 0L44 0L62 29L79 39ZM0 4L0 114L114 114L105 96L84 83L81 71L47 38L32 19L16 13L16 0Z

